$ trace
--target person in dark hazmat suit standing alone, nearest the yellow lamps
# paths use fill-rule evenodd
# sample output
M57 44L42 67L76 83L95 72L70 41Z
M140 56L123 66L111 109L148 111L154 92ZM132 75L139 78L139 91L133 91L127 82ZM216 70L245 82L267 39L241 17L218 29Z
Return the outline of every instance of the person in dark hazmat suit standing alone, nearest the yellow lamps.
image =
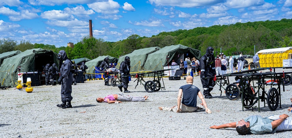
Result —
M65 108L72 108L71 101L72 101L72 62L67 57L67 54L64 50L61 50L58 54L58 60L62 62L60 68L60 78L58 79L58 84L61 84L61 100L62 104L58 104L58 107L63 109ZM67 102L67 104L66 104Z

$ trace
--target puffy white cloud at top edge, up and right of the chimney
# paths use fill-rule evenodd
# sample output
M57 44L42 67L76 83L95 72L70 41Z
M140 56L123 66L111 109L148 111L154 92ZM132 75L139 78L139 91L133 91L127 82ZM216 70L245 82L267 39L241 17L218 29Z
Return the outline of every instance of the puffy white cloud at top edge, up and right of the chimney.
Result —
M88 8L93 9L95 12L102 14L116 14L119 12L119 3L109 0L103 2L95 2L92 4L87 4Z

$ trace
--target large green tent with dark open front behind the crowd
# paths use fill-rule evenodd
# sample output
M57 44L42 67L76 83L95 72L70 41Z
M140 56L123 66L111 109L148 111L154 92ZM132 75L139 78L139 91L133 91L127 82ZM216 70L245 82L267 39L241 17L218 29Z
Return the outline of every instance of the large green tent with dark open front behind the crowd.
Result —
M178 64L180 59L201 58L201 52L181 44L165 46L164 48L151 53L145 62L145 70L162 70L164 66L171 65L172 60Z

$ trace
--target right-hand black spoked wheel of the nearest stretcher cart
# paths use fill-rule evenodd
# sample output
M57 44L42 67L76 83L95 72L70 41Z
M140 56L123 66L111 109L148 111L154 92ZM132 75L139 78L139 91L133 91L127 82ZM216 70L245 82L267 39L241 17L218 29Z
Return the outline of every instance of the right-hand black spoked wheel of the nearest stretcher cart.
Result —
M268 91L267 104L272 111L276 110L279 105L279 93L274 87L270 88Z

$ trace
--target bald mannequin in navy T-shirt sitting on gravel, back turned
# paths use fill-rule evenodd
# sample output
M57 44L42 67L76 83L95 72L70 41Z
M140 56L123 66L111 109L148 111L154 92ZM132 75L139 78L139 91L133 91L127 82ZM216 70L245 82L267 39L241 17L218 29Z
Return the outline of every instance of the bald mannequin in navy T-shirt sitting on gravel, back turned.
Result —
M193 85L193 77L187 76L187 85L180 87L178 91L178 105L173 107L158 107L159 110L173 111L173 112L195 112L197 109L202 109L202 105L206 108L207 113L212 113L208 109L204 96L200 89ZM183 101L182 101L183 94ZM202 103L197 105L197 96L202 100Z

